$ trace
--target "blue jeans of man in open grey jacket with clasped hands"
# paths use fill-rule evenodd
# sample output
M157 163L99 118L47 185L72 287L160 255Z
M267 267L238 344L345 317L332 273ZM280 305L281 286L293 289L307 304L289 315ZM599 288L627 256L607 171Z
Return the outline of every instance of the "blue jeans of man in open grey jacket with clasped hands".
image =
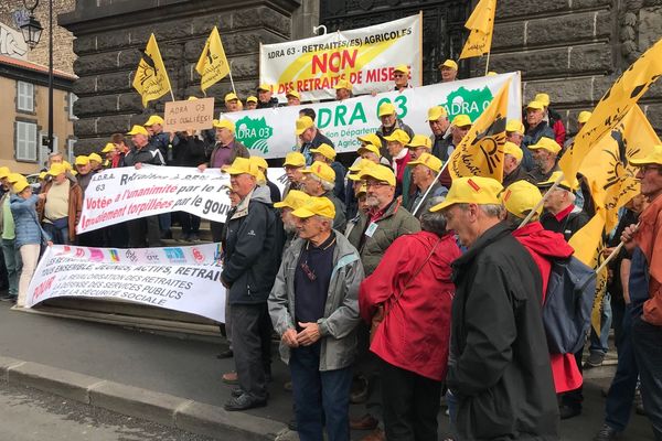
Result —
M291 351L289 367L301 441L322 441L324 421L328 441L350 439L350 390L352 368L320 372L317 342Z

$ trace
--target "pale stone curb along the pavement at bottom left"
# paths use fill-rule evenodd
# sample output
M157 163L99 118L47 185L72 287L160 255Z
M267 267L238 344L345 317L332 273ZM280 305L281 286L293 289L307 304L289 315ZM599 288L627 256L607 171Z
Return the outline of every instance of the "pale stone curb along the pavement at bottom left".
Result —
M10 357L0 356L0 380L225 440L270 441L286 428L267 418Z

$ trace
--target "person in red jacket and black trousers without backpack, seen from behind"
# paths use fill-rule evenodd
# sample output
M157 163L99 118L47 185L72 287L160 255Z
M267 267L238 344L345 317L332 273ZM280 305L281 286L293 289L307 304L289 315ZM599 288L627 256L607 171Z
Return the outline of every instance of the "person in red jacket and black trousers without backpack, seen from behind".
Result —
M434 197L426 204L423 230L398 237L361 283L363 320L371 323L375 314L383 315L370 348L380 357L388 440L437 439L455 295L450 263L460 256L444 216L428 211L442 201Z

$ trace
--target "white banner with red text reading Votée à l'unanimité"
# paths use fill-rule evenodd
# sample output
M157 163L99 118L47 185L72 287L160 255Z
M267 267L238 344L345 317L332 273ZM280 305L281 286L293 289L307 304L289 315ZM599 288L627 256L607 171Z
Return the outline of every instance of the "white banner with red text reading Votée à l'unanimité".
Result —
M285 189L282 169L268 169L269 180ZM229 211L229 175L220 170L194 168L132 166L95 174L85 191L76 232L87 233L108 225L161 213L186 212L210 220L225 222Z

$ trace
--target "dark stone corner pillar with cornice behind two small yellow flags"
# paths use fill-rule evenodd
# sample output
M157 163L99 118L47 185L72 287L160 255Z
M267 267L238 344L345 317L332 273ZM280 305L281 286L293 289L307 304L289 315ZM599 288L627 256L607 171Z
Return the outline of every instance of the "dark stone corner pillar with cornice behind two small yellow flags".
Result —
M166 95L146 109L131 86L150 33L159 43L175 99L185 99L202 97L195 64L216 25L236 92L246 98L254 95L259 79L259 44L289 40L292 12L299 7L298 0L77 0L73 12L58 17L58 23L76 37L76 152L99 150L111 133L143 123L171 99ZM231 90L226 77L206 94L216 98L221 110Z

